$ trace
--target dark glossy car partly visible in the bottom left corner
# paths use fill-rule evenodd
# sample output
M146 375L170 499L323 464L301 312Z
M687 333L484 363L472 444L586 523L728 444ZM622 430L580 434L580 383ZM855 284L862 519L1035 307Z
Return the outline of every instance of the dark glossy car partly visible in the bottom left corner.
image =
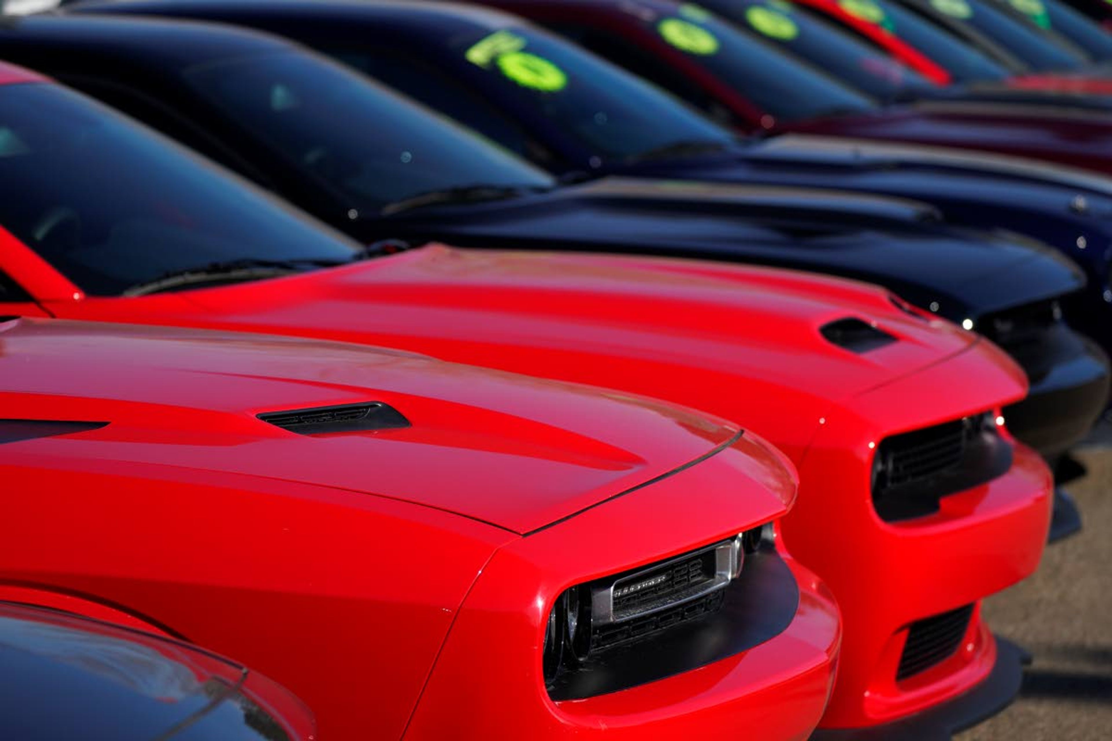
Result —
M286 690L181 641L0 602L0 738L312 741Z

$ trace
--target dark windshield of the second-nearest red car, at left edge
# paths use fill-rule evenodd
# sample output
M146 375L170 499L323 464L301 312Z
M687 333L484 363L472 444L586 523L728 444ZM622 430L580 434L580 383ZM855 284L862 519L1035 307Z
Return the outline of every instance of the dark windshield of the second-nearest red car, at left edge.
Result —
M216 262L350 261L358 247L54 84L0 89L0 224L81 290Z

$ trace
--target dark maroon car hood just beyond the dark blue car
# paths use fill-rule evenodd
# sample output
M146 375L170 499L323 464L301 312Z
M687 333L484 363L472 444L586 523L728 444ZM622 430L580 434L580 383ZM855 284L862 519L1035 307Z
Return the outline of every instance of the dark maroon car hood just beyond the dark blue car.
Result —
M961 147L1112 172L1112 121L1053 106L926 101L788 127L803 133Z

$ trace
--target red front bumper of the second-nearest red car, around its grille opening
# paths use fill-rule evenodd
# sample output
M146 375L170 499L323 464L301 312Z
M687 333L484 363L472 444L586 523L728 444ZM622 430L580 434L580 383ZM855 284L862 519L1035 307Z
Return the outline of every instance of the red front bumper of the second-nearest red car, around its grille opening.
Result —
M898 419L923 402L914 389L953 389L929 401L940 422L986 411L977 404L992 398L982 387L992 380L963 372L969 361L959 356L832 412L801 465L798 503L782 521L784 544L816 568L845 619L837 687L823 728L882 727L974 690L997 659L980 600L1039 565L1052 478L1042 459L1004 430L1014 444L1010 468L943 497L932 514L885 521L862 495L872 489L880 441L903 432ZM842 533L836 559L824 552L830 539L814 537L818 527ZM932 655L939 642L954 648Z

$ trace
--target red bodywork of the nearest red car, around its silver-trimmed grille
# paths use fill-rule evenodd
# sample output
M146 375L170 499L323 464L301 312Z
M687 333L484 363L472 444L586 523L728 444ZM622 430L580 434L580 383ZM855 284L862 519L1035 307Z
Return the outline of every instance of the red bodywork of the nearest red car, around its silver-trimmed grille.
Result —
M805 738L820 719L838 615L797 565L796 618L752 651L617 692L589 717L582 710L594 699L565 712L540 677L560 591L791 507L791 463L734 425L628 394L288 338L13 320L0 324L0 351L12 368L0 391L10 418L109 422L0 444L8 485L33 492L4 519L0 581L235 649L314 707L327 738L430 738L406 732L415 711L451 718L456 738L489 738L496 722L529 738L582 738L609 724L616 697L645 738L724 733L747 722L741 713L775 704L773 684L793 712L772 722L772 738ZM305 437L256 418L371 399L413 425ZM473 425L483 413L502 417L497 434L484 435L481 419ZM537 439L526 444L517 431ZM609 455L584 453L590 447ZM578 505L599 469L661 470L688 454L620 495L603 498L604 484L593 507L528 537L443 507L461 502L468 482L505 503L489 503L492 519L523 502L545 510L550 499L534 499L537 489L559 488ZM336 470L325 481L314 467ZM404 478L411 487L400 497ZM440 655L463 657L467 679L453 697L423 698ZM708 673L723 677L715 691ZM485 708L466 701L473 692L489 699ZM508 692L520 702L490 707Z

